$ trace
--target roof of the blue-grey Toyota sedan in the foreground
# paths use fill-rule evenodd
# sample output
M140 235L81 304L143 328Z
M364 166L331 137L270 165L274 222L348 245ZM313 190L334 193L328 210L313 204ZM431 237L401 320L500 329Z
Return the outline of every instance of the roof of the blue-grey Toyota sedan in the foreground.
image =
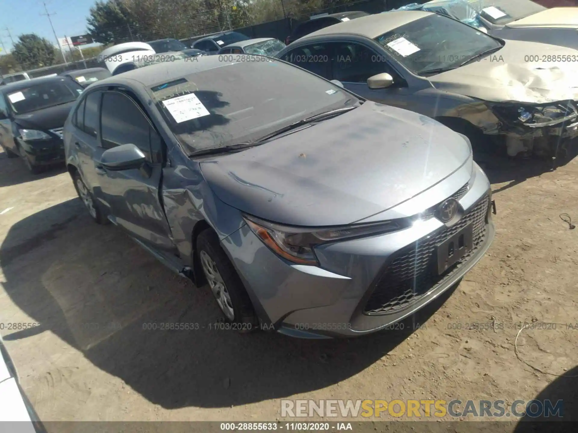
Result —
M136 81L148 88L154 84L161 82L168 83L169 81L177 80L190 74L214 68L221 68L228 65L231 65L231 63L223 62L222 59L219 60L217 55L203 55L201 57L196 57L195 60L179 59L129 70L122 74L97 81L95 84L98 84L99 86L106 86L107 84L129 85L134 84Z

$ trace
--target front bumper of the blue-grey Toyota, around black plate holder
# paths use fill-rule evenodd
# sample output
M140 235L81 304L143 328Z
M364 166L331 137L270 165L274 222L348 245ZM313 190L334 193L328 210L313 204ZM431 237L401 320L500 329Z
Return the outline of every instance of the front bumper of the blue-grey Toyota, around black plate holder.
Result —
M483 171L476 166L473 182L454 194L464 209L455 225L431 216L398 232L323 245L316 248L320 267L280 259L247 226L225 238L223 247L267 329L302 338L373 333L429 304L490 247L491 191ZM430 265L436 245L469 224L472 251L435 277Z

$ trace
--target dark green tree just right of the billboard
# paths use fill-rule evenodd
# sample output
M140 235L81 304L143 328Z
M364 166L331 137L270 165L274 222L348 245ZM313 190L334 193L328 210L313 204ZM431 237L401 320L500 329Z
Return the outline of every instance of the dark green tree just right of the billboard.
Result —
M90 8L87 30L94 42L118 44L134 40L133 14L122 0L99 0Z

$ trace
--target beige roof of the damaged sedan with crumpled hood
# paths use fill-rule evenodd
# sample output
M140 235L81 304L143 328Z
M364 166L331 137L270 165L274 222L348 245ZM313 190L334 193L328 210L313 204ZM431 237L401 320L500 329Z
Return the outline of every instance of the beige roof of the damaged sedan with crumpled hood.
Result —
M339 33L349 33L353 35L366 36L374 39L401 25L411 23L420 18L435 15L432 12L422 12L421 10L393 10L391 12L376 13L366 17L355 18L355 20L345 21L322 28L316 32L309 33L301 39L313 38L314 36L335 35Z

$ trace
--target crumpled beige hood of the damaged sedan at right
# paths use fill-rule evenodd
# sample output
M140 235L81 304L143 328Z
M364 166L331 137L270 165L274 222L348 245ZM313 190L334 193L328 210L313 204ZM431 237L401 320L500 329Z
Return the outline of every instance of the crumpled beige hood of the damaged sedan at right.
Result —
M542 62L543 56L570 56ZM540 61L531 61L538 59ZM562 57L560 57L562 59ZM433 87L491 102L546 103L578 99L578 51L507 40L496 53L461 68L428 77Z

